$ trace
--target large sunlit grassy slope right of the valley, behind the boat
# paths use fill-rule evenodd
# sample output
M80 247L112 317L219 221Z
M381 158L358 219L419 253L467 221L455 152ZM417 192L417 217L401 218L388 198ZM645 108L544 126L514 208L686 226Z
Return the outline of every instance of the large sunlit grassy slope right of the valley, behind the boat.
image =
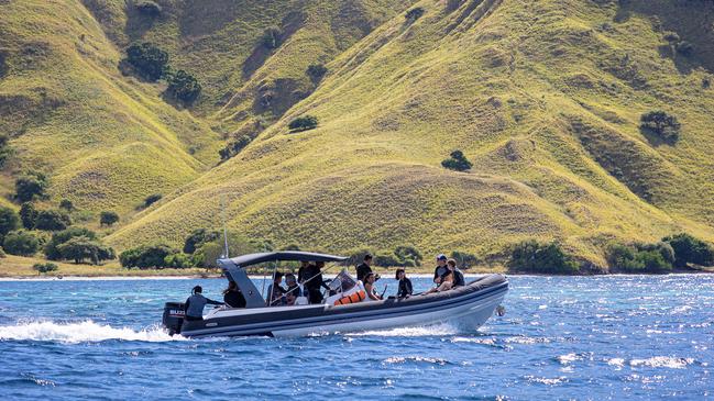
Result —
M334 252L494 255L554 237L602 263L613 238L714 240L710 73L663 56L650 15L582 0L418 5L424 16L397 15L342 53L238 157L110 241L178 243L217 225L221 196L235 230ZM652 109L682 122L679 143L639 132ZM320 126L288 133L304 113ZM441 168L454 148L470 172Z

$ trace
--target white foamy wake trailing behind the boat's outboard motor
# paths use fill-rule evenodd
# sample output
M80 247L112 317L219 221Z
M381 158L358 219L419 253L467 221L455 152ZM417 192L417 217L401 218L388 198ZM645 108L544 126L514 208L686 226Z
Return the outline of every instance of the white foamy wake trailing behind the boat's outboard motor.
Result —
M55 323L50 321L0 326L0 341L23 339L61 343L124 339L156 343L184 339L184 337L172 337L157 326L134 331L129 327L116 328L106 324L97 324L90 320L79 323Z

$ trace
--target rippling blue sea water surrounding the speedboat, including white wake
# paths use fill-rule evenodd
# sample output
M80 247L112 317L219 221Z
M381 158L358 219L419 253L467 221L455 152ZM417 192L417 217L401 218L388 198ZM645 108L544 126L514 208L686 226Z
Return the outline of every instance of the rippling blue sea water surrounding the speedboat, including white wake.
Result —
M714 276L509 280L477 332L288 339L158 327L165 301L220 299L220 279L0 281L0 398L714 399Z

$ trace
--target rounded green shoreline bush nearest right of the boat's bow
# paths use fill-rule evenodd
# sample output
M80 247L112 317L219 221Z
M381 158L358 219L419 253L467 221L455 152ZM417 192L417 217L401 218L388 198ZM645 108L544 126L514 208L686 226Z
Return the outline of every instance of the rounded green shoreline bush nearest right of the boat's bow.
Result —
M535 240L513 246L508 267L512 271L563 275L580 269L578 263L557 242L541 244Z

